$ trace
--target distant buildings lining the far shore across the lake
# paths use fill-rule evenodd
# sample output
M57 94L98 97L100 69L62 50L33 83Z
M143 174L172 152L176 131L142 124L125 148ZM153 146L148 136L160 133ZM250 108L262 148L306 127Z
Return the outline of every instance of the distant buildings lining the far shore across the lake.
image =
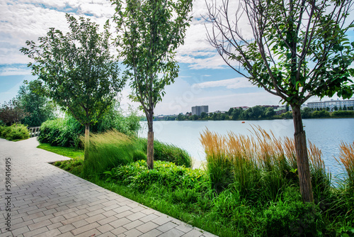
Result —
M278 105L260 105L263 108L272 108L275 115L281 115L286 113L287 111L292 111L291 106L278 106ZM246 111L250 109L249 106L236 106L230 108L232 109L242 109ZM315 110L325 110L325 111L338 111L338 110L350 110L352 111L354 108L354 99L346 99L346 100L339 100L339 99L331 99L329 101L314 101L308 102L307 104L302 105L302 109L309 108L312 111ZM174 120L178 115L183 116L210 116L212 114L227 114L228 111L209 111L208 105L202 106L193 106L191 107L191 112L186 112L185 114L173 114L173 115L158 115L155 116L156 120ZM171 119L170 119L171 118Z

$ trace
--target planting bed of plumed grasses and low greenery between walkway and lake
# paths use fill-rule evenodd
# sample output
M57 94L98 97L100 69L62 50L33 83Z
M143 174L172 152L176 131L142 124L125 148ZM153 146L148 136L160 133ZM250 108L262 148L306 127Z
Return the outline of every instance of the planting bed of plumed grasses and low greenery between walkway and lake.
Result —
M91 138L96 168L90 172L84 172L82 157L54 165L218 236L353 235L354 143L343 143L336 158L346 167L342 180L331 177L321 150L309 143L315 202L304 204L293 139L275 138L259 127L253 133L202 133L205 169L176 165L163 144L160 151L154 146L160 158L149 170L141 149L147 144L117 131Z

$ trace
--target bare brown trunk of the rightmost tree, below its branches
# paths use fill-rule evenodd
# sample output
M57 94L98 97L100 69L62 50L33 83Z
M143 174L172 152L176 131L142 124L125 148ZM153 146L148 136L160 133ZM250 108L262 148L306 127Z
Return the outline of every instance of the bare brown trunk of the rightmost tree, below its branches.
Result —
M300 106L292 106L292 117L295 128L294 137L297 171L299 172L299 184L302 201L314 202L314 194L312 193L312 183L309 169L309 157L307 154L306 135L304 126L302 126Z

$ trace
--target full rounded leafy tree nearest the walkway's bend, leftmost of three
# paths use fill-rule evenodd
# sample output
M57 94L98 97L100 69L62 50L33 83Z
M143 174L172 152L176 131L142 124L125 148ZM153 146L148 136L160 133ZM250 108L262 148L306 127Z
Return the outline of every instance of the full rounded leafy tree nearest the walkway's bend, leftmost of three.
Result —
M90 126L113 103L125 84L118 78L118 62L110 55L109 23L103 33L89 19L66 15L70 32L50 28L38 38L40 45L27 41L21 52L32 58L33 75L44 82L42 92L85 126L85 159L89 157Z

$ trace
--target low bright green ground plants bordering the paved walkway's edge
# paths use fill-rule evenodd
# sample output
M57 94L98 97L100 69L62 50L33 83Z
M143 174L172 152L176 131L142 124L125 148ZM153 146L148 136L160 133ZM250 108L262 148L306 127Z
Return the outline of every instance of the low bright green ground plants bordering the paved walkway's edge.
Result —
M82 177L80 161L55 165ZM353 232L353 202L341 188L332 187L321 202L303 204L295 185L282 189L273 201L261 195L245 197L237 185L217 194L210 189L206 172L171 162L156 161L155 169L148 170L147 162L139 160L104 173L89 181L221 237L350 236Z

